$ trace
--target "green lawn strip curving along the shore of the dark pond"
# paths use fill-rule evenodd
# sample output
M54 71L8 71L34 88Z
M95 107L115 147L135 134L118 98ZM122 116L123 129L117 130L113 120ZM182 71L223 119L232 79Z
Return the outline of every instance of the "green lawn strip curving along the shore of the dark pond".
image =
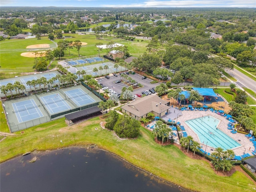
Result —
M191 159L174 145L156 144L153 134L145 128L141 128L138 138L121 140L112 131L102 129L100 121L94 118L67 126L64 118L61 118L28 128L24 134L18 132L16 136L1 142L0 160L3 162L33 150L96 144L152 174L192 190L208 192L210 188L214 192L249 192L256 187L240 172L235 172L231 177L218 176L209 162Z

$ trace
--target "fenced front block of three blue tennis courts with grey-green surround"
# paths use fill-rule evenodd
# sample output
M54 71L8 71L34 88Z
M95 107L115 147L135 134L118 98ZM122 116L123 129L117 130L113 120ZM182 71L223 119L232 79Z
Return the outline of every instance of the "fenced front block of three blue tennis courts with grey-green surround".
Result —
M64 117L71 112L97 106L100 98L82 85L48 90L3 101L11 132Z

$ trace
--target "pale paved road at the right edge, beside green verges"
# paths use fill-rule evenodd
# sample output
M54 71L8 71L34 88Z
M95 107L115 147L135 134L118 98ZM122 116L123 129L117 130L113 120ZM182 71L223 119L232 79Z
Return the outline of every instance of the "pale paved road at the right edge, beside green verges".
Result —
M226 72L228 72L228 74L236 78L237 82L235 82L235 84L237 87L246 87L256 93L256 82L254 80L242 74L240 71L236 69L226 70Z

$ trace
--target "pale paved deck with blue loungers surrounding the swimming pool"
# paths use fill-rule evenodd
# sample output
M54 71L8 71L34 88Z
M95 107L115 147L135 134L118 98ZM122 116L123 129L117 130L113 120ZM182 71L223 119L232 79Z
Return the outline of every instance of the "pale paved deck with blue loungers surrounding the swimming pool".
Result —
M180 111L177 111L177 113L178 112L180 112ZM227 129L229 121L225 117L223 117L217 113L211 112L210 110L207 110L207 111L198 111L198 110L197 111L182 111L182 116L178 116L178 122L180 122L181 125L184 126L184 128L189 136L192 136L192 138L195 141L200 142L197 134L192 129L190 129L190 127L185 123L185 121L194 119L194 118L199 118L202 116L208 116L208 115L211 115L211 116L219 119L220 123L218 125L218 129L222 130L224 133L226 133L228 136L230 136L231 138L233 138L234 140L236 140L237 142L239 142L242 145L242 146L232 149L236 155L238 155L238 156L243 155L244 150L245 150L245 153L249 153L250 155L253 156L252 150L254 150L254 146L253 146L252 142L250 142L249 138L247 138L244 134L240 134L240 133L232 134L230 132L231 130ZM206 144L201 144L201 146L202 146L203 150L206 149L206 152L212 153L214 150L214 148L211 148L209 146L206 147ZM249 150L249 148L250 148L250 150Z

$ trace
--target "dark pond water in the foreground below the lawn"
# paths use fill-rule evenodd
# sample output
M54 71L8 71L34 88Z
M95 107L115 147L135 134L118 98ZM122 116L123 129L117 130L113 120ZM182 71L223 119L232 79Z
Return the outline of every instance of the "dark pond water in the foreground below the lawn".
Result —
M1 164L0 182L1 192L188 192L94 146L13 158Z

